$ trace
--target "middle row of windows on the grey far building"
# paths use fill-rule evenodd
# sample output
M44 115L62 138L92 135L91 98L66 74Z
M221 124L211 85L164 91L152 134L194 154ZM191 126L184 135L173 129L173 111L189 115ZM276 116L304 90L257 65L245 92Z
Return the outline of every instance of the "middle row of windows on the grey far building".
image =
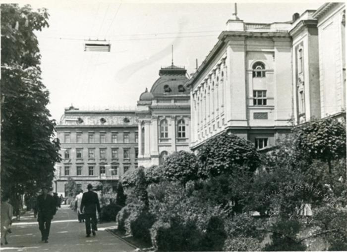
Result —
M99 158L106 159L106 148L99 148ZM135 148L135 159L138 156L138 148ZM71 149L66 149L64 159L70 159ZM118 148L111 148L111 158L118 159ZM76 148L76 159L83 159L83 148ZM95 148L88 148L88 159L95 159ZM123 148L123 159L130 159L130 148Z

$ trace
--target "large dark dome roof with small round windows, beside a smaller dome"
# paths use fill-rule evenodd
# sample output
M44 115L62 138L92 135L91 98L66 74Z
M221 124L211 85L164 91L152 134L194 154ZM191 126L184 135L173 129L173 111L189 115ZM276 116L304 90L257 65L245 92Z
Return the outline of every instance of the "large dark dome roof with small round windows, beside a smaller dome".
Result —
M159 79L153 84L151 93L154 96L189 93L185 86L188 81L187 70L171 65L159 70Z

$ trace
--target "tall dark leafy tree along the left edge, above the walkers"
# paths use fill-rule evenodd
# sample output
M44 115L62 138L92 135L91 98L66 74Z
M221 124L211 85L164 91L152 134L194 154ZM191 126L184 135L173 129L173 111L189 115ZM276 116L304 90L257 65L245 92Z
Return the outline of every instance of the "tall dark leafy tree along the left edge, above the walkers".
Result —
M46 9L1 4L1 190L34 193L51 185L60 161L56 122L46 108L34 31L48 26Z

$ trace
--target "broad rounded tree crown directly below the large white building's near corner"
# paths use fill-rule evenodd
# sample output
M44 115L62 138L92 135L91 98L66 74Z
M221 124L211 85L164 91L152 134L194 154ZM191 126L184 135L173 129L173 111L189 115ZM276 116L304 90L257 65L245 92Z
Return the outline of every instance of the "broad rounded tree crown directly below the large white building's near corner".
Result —
M227 132L201 146L197 159L199 175L203 177L233 174L239 167L255 171L260 165L260 154L253 143Z

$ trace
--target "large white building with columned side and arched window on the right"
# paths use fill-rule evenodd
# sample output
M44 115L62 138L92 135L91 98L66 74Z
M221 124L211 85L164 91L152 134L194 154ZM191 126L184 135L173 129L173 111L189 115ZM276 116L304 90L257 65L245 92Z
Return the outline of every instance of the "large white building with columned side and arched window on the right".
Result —
M271 24L245 23L234 14L187 83L190 147L230 131L266 149L293 124L344 118L345 76L344 3Z

